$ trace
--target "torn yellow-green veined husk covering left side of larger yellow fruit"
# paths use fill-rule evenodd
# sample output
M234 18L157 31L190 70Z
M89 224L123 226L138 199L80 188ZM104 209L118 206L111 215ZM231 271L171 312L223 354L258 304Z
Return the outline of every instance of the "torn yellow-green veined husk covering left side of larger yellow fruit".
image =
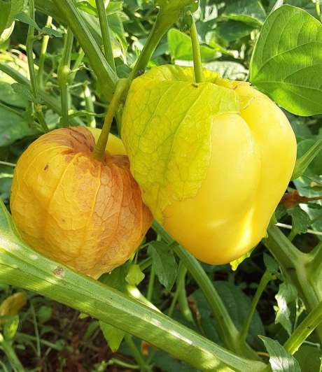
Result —
M239 110L235 91L220 85L225 80L206 69L204 78L195 84L192 68L159 66L135 79L127 96L123 142L159 221L172 201L195 196L206 178L214 117Z

